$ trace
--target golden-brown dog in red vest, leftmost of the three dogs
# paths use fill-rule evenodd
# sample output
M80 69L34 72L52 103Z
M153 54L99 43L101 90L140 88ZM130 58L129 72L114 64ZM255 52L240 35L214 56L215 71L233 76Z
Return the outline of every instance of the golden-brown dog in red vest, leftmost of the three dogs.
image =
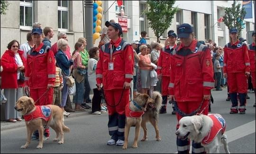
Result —
M45 128L50 126L55 130L56 138L54 141L58 141L60 136L60 141L58 144L64 143L64 132L69 132L70 129L64 125L63 111L60 107L56 105L35 106L32 98L22 96L18 99L15 110L21 112L25 118L27 127L27 142L20 148L26 149L30 144L32 133L35 130L38 130L39 144L37 145L37 149L41 149L43 147L44 126ZM45 117L36 119L33 118L35 115L40 116L40 113L42 113L42 115ZM48 122L46 122L45 119L48 119Z

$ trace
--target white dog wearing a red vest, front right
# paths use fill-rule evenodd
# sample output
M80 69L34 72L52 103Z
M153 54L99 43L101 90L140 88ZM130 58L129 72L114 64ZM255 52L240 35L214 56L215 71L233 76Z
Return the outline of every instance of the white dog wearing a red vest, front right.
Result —
M219 153L220 143L225 152L230 154L227 136L224 134L226 122L219 114L194 115L183 117L179 121L176 135L179 138L189 138L205 147L207 154Z

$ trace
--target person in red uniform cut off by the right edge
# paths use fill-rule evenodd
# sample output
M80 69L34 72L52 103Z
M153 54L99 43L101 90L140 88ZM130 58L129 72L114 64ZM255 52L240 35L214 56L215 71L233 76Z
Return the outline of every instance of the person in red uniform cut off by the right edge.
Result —
M251 67L250 70L251 70L252 84L253 84L254 94L255 94L255 98L256 98L256 70L255 70L255 65L256 65L256 62L255 62L255 57L256 57L255 40L256 40L256 37L255 37L255 32L253 32L252 38L253 38L253 43L251 43L250 45L247 45L247 49L248 49L249 59L250 59L250 67ZM255 107L255 106L256 105L254 103L253 107Z

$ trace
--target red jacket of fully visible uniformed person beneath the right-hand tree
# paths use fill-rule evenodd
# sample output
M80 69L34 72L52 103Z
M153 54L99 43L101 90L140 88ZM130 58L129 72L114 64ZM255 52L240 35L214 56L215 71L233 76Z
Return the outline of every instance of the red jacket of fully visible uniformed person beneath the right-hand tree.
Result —
M246 43L237 41L224 47L223 73L250 72L250 60Z

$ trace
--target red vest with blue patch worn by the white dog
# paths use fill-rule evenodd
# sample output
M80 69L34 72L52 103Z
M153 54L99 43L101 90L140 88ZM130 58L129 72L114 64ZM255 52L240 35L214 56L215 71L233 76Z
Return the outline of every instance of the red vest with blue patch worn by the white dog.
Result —
M219 114L209 114L208 115L211 120L213 121L213 125L210 128L210 131L206 137L203 138L202 144L210 144L213 139L217 136L219 131L223 134L226 129L226 121L224 118Z

